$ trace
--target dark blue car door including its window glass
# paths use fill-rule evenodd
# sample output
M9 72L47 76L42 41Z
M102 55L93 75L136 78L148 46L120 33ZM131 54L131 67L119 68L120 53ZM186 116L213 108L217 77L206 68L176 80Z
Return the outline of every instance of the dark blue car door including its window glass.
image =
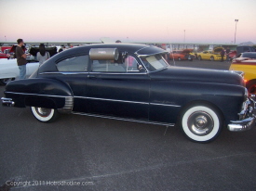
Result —
M140 60L91 60L87 82L88 112L148 120L150 78Z

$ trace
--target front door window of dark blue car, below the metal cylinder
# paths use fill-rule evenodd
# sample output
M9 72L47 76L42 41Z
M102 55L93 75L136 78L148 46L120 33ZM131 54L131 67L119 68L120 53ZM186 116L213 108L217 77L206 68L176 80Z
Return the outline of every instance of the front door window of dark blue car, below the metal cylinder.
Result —
M134 57L121 57L118 60L92 60L91 71L94 72L117 72L139 71L138 62Z

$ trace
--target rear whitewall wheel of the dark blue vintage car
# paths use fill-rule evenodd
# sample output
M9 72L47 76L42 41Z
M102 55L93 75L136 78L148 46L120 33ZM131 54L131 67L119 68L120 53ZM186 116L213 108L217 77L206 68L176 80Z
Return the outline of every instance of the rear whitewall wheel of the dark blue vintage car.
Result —
M55 121L59 113L57 109L54 108L37 108L31 107L34 118L41 122L52 122Z

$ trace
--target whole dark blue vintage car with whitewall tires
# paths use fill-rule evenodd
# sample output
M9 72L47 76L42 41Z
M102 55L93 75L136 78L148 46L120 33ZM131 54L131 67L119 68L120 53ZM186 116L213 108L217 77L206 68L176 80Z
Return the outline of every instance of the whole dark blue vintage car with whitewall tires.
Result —
M38 121L60 113L174 126L195 142L222 127L254 126L254 101L231 71L169 67L166 52L149 45L101 44L66 50L26 80L10 82L3 105L31 107Z

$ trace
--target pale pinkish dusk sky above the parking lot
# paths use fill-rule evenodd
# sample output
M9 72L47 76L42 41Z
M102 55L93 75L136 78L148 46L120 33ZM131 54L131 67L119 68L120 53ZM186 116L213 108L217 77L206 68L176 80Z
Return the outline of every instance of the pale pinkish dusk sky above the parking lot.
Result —
M236 44L256 44L256 0L0 0L0 13L0 42L231 44L238 19Z

